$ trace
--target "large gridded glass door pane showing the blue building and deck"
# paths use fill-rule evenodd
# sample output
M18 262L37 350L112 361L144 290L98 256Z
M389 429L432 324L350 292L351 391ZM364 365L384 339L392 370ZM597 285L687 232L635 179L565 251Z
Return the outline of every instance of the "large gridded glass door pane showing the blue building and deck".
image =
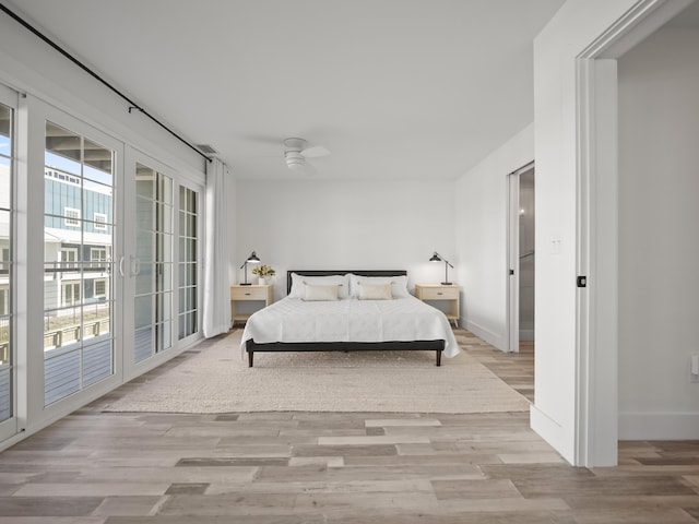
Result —
M114 373L114 151L46 122L44 402Z

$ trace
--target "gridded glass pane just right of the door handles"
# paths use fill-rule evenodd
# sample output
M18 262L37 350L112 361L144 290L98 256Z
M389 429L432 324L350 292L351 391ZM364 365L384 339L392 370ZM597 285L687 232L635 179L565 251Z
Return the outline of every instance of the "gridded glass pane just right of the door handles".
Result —
M134 361L173 345L173 180L135 164Z

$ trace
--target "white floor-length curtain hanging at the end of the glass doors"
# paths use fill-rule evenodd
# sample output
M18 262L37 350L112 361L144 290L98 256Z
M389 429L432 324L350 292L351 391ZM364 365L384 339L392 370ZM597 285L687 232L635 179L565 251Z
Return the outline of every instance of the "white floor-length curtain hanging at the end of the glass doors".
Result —
M228 239L226 237L227 175L226 165L218 158L206 164L203 305L203 331L206 338L225 333L230 326Z

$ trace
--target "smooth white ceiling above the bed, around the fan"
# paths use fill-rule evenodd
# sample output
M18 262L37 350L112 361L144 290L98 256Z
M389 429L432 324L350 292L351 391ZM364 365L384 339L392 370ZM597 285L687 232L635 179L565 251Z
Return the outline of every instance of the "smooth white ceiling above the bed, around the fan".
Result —
M301 136L319 179L453 179L532 122L564 0L5 3L237 178L298 178Z

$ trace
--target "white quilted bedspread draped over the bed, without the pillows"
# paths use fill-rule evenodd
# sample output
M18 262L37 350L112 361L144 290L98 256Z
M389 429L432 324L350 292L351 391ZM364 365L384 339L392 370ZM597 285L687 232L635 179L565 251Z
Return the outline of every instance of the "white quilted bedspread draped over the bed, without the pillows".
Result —
M393 300L305 301L283 298L247 321L241 348L272 342L445 341L442 355L461 350L447 317L410 296Z

